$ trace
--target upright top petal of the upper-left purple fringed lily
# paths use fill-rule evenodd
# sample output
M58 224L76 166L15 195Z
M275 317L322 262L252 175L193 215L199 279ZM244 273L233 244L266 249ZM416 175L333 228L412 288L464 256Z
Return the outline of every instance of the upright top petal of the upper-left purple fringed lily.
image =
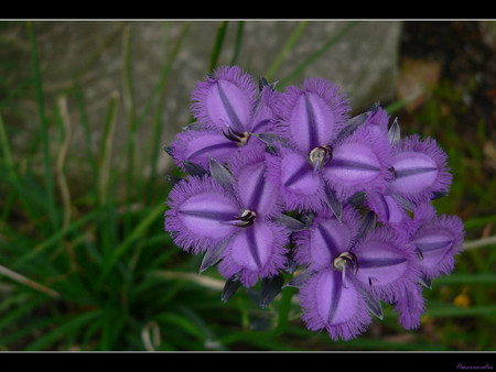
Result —
M206 81L200 81L192 94L193 116L206 127L231 127L244 133L251 123L257 86L237 66L218 68Z

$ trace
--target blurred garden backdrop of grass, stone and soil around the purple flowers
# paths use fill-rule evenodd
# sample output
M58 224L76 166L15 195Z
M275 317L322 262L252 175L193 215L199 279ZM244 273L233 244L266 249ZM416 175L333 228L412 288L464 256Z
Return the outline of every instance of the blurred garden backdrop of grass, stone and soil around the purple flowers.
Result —
M495 350L495 57L493 21L0 21L0 350ZM223 303L215 267L173 245L162 146L196 81L231 64L279 89L331 79L354 113L379 101L446 151L435 206L464 220L465 251L418 330L385 304L333 342L292 288Z

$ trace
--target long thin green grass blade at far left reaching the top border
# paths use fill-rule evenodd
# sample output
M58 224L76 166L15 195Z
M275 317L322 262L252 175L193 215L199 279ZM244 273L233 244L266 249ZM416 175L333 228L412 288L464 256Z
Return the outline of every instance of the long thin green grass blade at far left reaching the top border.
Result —
M42 88L42 77L40 69L40 61L37 56L36 42L34 40L34 33L31 22L26 22L28 33L31 45L31 59L34 75L34 88L36 91L36 101L41 123L41 138L43 143L43 158L44 158L44 176L45 176L45 190L47 199L47 212L52 223L52 228L56 230L58 228L57 216L55 210L55 199L53 190L53 177L52 177L52 158L50 154L50 139L48 139L48 119L45 113L45 103Z

